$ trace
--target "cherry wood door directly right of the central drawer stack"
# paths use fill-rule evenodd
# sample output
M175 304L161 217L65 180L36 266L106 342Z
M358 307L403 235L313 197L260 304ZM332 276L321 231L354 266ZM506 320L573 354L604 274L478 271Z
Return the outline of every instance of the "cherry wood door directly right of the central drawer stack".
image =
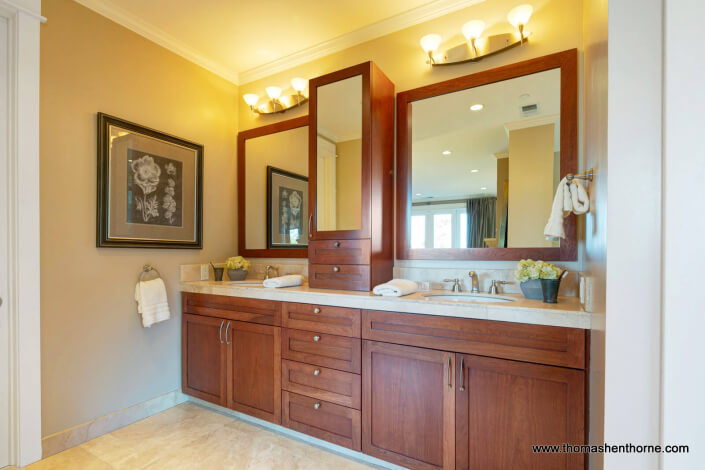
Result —
M455 468L455 355L363 341L362 360L363 452L410 469Z

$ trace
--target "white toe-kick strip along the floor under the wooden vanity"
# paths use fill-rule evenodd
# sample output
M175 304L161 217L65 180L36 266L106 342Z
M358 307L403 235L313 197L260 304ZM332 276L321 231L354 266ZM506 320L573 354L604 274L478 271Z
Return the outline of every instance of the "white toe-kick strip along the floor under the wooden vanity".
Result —
M203 401L198 398L187 397L187 400L190 401L191 403L195 403L197 405L203 406L204 408L209 408L213 411L217 411L218 413L221 413L221 414L224 414L227 416L232 416L233 418L237 418L242 421L246 421L250 424L254 424L256 426L268 429L270 431L274 431L274 432L281 434L281 435L284 435L286 437L291 437L293 439L303 441L307 444L311 444L316 447L320 447L320 448L325 449L329 452L333 452L335 454L339 454L344 457L354 459L354 460L357 460L359 462L363 462L368 465L375 466L377 468L383 468L383 469L389 469L389 470L406 470L404 467L394 465L393 463L385 462L384 460L380 460L375 457L371 457L367 454L363 454L362 452L357 452L354 450L350 450L347 447L341 447L339 445L331 444L328 441L323 441L321 439L311 437L307 434L302 434L302 433L294 431L292 429L285 428L284 426L270 423L269 421L264 421L264 420L261 420L258 418L253 418L252 416L248 416L248 415L240 413L238 411L233 411L229 408L223 408L222 406L214 405L213 403L209 403L207 401Z

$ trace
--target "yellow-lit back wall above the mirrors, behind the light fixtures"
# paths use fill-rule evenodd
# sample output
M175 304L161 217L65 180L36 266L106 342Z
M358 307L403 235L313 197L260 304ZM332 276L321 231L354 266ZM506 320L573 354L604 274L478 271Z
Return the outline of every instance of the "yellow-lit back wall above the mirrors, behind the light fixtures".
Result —
M540 57L566 49L582 47L582 0L537 0L532 1L534 14L527 30L533 32L526 47L487 58L476 64L431 68L425 63L425 55L419 40L429 33L441 34L448 46L461 44L465 39L460 28L471 19L482 19L487 24L485 34L506 33L511 30L506 16L517 5L515 0L493 0L453 12L440 18L397 31L372 41L331 54L312 62L299 65L254 82L240 86L240 101L245 93L264 96L267 86L289 89L294 77L311 79L345 67L374 61L394 82L396 91L408 90L442 80L507 65L533 57ZM441 46L443 49L444 46ZM240 130L270 124L308 114L308 104L300 109L276 116L253 114L246 106L240 106Z

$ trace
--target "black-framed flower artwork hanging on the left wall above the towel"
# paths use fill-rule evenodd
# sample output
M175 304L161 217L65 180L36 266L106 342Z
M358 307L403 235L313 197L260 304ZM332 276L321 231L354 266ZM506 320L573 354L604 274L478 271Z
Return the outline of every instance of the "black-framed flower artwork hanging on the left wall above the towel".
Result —
M98 113L98 247L202 248L203 146Z

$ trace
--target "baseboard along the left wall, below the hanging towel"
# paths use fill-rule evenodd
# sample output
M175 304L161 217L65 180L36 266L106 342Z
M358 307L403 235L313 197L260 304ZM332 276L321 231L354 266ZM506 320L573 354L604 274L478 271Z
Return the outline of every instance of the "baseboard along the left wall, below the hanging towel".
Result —
M186 401L188 401L188 397L181 393L181 390L174 390L109 415L101 416L87 423L46 436L42 439L42 458L45 459L51 455L58 454L66 449L161 413Z

